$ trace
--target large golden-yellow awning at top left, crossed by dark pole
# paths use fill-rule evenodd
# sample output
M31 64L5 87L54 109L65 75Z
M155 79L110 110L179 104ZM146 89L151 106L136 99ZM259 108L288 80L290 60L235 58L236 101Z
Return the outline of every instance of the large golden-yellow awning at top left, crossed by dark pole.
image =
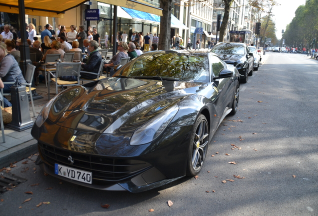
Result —
M24 0L25 14L63 18L66 10L88 0ZM0 0L0 11L19 13L17 0Z

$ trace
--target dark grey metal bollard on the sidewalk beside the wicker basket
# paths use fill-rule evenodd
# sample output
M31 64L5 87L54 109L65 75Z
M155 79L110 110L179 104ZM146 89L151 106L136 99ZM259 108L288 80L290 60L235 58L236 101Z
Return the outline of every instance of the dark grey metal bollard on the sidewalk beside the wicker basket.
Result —
M16 78L15 83L10 87L10 90L12 103L12 121L6 126L17 131L22 131L32 127L33 121L30 118L25 85L22 85Z

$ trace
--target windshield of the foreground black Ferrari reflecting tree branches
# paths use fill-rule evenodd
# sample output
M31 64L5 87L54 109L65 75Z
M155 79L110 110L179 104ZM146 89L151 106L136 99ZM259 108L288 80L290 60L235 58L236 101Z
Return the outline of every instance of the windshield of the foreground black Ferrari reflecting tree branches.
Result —
M149 52L129 62L114 76L208 82L208 71L206 54Z

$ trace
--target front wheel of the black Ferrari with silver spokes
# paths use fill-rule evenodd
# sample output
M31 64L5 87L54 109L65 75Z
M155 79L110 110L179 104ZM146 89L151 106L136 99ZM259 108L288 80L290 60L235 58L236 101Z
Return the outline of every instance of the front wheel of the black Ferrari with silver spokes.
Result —
M207 120L203 114L200 114L191 132L186 166L187 176L195 176L202 169L208 147L208 130Z

